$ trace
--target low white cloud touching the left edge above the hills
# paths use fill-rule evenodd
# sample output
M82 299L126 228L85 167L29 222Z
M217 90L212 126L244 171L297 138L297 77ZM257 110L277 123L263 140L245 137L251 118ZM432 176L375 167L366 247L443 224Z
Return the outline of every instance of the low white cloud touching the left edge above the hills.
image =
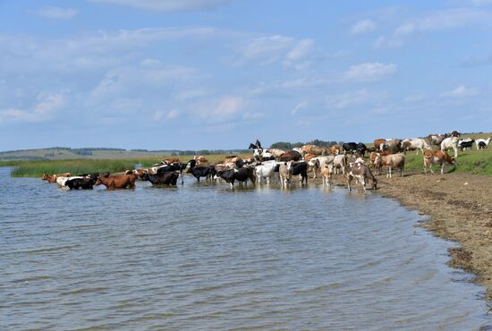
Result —
M65 104L62 94L39 94L37 103L29 110L16 108L0 109L0 123L2 122L44 122Z

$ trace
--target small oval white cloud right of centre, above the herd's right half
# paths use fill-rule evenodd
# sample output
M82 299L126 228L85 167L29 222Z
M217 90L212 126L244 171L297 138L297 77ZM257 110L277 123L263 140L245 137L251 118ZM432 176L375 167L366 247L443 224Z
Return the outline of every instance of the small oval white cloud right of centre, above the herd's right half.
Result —
M344 81L374 82L381 81L397 71L396 64L367 63L352 65L344 72Z

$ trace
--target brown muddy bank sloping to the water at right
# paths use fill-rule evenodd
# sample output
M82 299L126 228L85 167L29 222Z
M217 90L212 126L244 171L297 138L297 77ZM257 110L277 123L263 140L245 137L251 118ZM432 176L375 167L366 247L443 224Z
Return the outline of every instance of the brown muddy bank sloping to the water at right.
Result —
M337 178L342 183L342 178ZM431 216L424 224L438 236L459 242L449 264L477 276L492 300L492 177L475 174L378 176L377 192Z

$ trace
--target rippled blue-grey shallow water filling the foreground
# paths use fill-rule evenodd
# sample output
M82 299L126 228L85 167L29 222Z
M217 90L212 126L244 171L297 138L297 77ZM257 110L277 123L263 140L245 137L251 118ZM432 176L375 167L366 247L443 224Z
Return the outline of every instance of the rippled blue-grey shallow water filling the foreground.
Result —
M392 199L310 184L62 191L0 168L0 328L477 329L484 290Z

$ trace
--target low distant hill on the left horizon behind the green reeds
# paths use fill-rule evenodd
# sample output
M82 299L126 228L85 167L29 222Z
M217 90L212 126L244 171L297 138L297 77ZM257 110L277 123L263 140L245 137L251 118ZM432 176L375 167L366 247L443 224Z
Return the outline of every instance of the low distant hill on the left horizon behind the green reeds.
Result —
M71 149L67 147L53 147L47 149L20 149L0 152L0 161L17 160L63 160L78 158L115 159L140 157L168 157L184 155L234 154L244 149L216 149L216 150L147 150L147 149L106 149L83 148Z

